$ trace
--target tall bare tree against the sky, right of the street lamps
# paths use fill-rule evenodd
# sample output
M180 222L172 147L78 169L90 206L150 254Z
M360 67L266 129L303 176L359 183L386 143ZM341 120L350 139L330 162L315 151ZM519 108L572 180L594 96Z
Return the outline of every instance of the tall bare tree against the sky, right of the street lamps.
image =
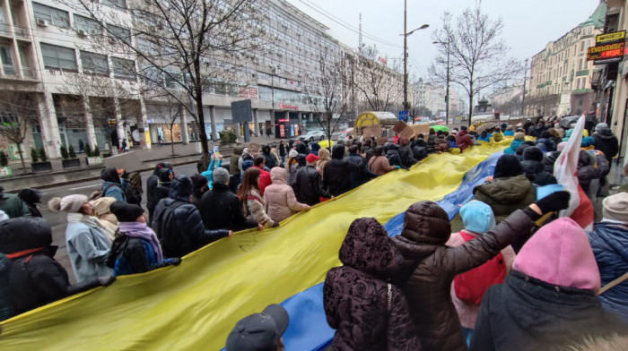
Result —
M447 80L449 50L449 81L462 87L469 98L469 124L473 115L473 99L480 90L507 79L518 77L522 64L507 55L510 47L500 38L502 19L492 20L480 9L466 9L455 23L451 13L443 15L443 25L432 39L442 43L439 55L430 67L436 80Z

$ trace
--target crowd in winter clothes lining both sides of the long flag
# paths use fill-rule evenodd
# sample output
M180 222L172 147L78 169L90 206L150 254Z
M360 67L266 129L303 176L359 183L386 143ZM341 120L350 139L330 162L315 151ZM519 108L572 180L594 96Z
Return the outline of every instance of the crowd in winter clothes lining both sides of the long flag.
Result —
M330 150L307 141L264 145L257 153L236 147L228 167L208 152L195 175L159 163L145 193L139 172L105 168L90 196L48 201L49 210L66 213L74 285L53 258L51 228L37 208L42 193L0 187L0 321L118 276L178 265L234 232L278 227L430 154L464 157L469 148L509 138L493 175L474 189L475 200L461 204L462 230L452 233L448 214L432 201L410 206L393 238L374 218L353 221L339 253L343 266L329 270L324 286L327 322L336 330L332 348L505 350L613 341L627 334L628 282L598 294L628 269L628 193L608 196L617 141L606 124L593 127L578 163L582 190L591 201L604 198L590 232L556 215L569 193L536 193L557 183L554 162L571 137L571 129L542 117L479 133L474 126L430 129L384 145L350 139ZM287 324L283 308L271 305L236 324L227 350L282 349Z

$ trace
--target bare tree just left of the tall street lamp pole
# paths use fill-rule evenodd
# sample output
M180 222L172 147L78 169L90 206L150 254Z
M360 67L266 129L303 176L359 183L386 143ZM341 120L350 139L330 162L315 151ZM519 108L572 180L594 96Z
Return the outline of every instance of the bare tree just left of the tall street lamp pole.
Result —
M403 81L391 80L395 73L377 61L377 47L364 47L357 57L353 87L373 111L390 110L401 98Z

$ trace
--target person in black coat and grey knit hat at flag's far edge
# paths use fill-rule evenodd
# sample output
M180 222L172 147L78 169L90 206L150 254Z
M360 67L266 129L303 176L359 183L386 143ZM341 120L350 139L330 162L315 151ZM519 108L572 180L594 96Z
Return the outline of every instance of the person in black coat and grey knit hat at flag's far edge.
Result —
M255 220L247 220L242 213L238 197L231 193L229 173L221 168L214 172L214 188L201 198L201 218L205 228L210 230L228 229L234 232L263 226L257 226Z

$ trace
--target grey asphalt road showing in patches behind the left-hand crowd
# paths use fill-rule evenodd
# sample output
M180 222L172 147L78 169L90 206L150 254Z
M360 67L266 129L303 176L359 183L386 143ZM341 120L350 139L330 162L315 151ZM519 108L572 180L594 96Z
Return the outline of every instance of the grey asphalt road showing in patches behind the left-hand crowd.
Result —
M227 160L227 162L225 163L229 164L229 160ZM197 173L196 163L174 167L174 172L175 175L194 175ZM141 173L144 189L144 194L142 196L142 207L144 207L144 210L146 209L146 179L148 179L148 177L152 174L153 171L146 171ZM70 276L70 280L73 284L75 282L74 272L72 270L72 265L70 264L70 259L65 247L66 213L48 210L48 200L54 197L64 197L66 195L71 195L75 193L89 196L90 193L92 193L93 191L100 189L100 184L102 184L101 180L92 180L82 183L51 187L42 190L43 195L41 197L41 204L39 205L39 209L41 210L41 214L44 216L44 218L48 219L50 226L52 226L53 244L59 246L59 249L57 250L57 255L55 255L55 259L64 266L65 270L67 270Z

